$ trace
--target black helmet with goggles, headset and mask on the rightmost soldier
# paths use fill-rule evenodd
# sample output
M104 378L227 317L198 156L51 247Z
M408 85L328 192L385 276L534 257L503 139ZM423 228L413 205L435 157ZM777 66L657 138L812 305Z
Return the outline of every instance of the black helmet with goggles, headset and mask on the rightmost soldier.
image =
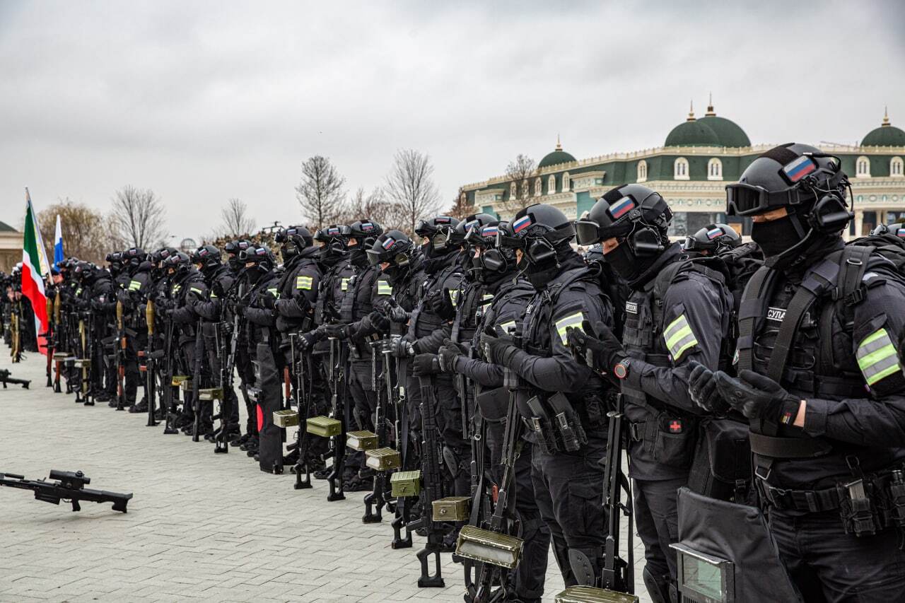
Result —
M751 162L737 184L726 187L728 215L786 215L756 221L751 238L767 263L789 267L837 244L853 218L845 201L842 161L809 145L788 143Z

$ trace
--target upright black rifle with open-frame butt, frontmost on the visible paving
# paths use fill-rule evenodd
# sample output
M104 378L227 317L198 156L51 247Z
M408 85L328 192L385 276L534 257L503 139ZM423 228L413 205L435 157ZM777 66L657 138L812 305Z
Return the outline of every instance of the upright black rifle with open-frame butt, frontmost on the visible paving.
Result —
M409 526L409 530L424 528L427 531L427 541L424 549L416 553L421 562L421 577L418 578L418 588L445 586L443 582L443 570L440 567L440 550L443 547L443 532L433 521L433 502L443 498L443 474L440 471L440 434L436 422L436 392L433 388L433 377L418 378L421 385L421 421L424 444L421 447L422 476L424 480L424 507L421 510L421 518ZM429 570L428 559L433 555L433 575Z

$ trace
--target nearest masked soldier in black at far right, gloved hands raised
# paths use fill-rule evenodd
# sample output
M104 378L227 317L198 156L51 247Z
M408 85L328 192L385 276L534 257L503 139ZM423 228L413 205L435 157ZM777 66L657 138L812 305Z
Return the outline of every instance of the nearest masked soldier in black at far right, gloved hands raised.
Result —
M806 601L893 601L905 590L905 280L842 240L839 158L787 144L727 187L767 257L739 317L738 377L700 384L750 421L769 531Z

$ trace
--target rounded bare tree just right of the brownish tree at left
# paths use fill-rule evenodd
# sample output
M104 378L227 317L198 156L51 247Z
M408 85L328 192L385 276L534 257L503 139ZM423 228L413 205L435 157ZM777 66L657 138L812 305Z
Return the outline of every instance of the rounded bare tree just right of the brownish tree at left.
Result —
M150 188L141 190L127 185L114 193L111 235L123 246L144 249L162 245L167 235L166 218L167 208Z

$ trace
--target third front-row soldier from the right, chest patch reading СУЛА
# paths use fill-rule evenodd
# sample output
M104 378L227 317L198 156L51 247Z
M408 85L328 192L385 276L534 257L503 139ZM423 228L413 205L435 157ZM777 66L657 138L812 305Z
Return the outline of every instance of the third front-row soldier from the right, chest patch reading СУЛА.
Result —
M576 584L570 558L603 567L606 449L605 383L576 360L567 329L584 322L612 325L610 302L570 246L575 227L552 206L534 205L515 215L511 236L498 245L515 249L519 269L536 290L513 340L485 332L485 358L519 376L519 414L535 427L531 477L538 508L553 540L567 585ZM562 416L562 419L559 419Z

